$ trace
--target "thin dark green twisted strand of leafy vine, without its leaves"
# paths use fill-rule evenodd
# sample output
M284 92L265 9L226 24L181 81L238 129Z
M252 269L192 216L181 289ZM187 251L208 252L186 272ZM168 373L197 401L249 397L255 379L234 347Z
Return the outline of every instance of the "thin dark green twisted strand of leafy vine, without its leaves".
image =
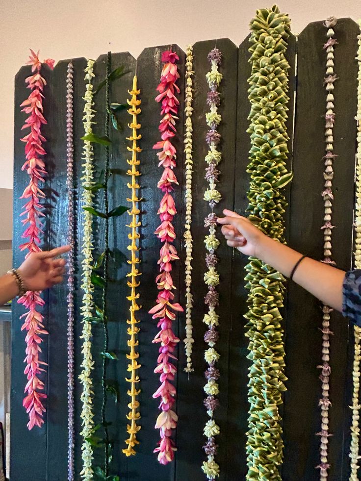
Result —
M105 77L105 104L106 104L106 116L105 116L105 126L104 126L104 133L105 136L109 136L109 109L110 109L110 102L109 102L109 75L110 75L110 62L111 62L111 52L109 51L106 56L106 77ZM109 146L105 146L105 169L104 169L104 209L105 213L109 211L108 205L108 178L109 178ZM104 230L104 269L103 269L103 278L104 278L104 286L103 286L103 331L104 331L104 355L103 355L103 404L102 404L102 424L104 428L104 472L105 477L109 475L109 432L105 418L105 409L106 409L106 367L107 367L107 358L105 357L105 353L108 352L108 345L109 345L109 334L108 334L108 327L107 327L107 302L106 296L108 291L108 261L109 261L109 219L105 217L105 230Z

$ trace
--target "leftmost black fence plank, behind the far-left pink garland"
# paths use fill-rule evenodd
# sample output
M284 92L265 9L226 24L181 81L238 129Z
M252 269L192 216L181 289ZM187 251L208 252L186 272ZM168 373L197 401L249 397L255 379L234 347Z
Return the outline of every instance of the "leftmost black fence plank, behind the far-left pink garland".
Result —
M28 184L28 176L26 172L21 170L25 161L24 147L25 143L20 138L28 133L28 129L21 130L24 125L26 114L21 112L20 104L28 97L29 89L26 88L25 79L31 75L30 67L22 67L15 77L15 141L14 141L14 234L13 234L13 265L19 266L25 258L25 252L21 253L18 246L23 242L21 236L24 231L21 224L20 213L23 211L23 205L26 200L20 199L23 191ZM44 116L50 120L52 106L52 72L48 67L42 70L42 76L48 85L44 89L46 97L44 105ZM44 191L47 196L46 204L50 198L51 179L53 173L53 154L51 143L51 122L43 126L43 135L48 142L45 144L45 150L48 152L46 169L48 176L46 177ZM44 225L44 246L47 248L49 242L49 217ZM44 323L48 327L48 292L43 294L46 304L42 309L44 315ZM46 479L46 452L47 452L47 430L49 428L48 416L45 414L45 426L42 429L33 428L28 431L26 424L28 416L23 407L24 388L26 385L26 376L24 375L24 358L25 358L25 331L21 331L23 321L19 317L26 312L24 306L13 303L12 308L12 357L11 357L11 454L10 454L10 472L11 479L27 479L29 481L42 481ZM48 362L48 336L42 336L42 360ZM47 369L49 373L49 367ZM48 374L42 377L43 380ZM45 382L45 391L49 392L49 384ZM16 414L14 414L16 413ZM32 446L32 450L28 449ZM27 469L27 466L34 466L34 469ZM36 466L36 469L35 469ZM25 471L26 469L26 471ZM24 478L26 476L26 478Z

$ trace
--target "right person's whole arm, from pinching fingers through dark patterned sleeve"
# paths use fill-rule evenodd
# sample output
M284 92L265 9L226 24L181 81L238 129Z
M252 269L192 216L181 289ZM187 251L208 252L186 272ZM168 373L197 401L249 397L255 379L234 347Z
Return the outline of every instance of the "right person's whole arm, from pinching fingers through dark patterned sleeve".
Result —
M229 246L258 257L361 326L361 270L344 272L310 259L263 234L247 218L231 210L223 213L226 217L218 223Z

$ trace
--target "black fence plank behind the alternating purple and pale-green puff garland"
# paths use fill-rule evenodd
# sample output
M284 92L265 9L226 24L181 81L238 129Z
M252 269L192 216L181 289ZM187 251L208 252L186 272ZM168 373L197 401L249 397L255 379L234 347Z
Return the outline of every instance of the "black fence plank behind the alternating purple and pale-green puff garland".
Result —
M222 82L218 88L221 94L219 112L222 122L218 128L222 136L220 150L222 151L222 161L219 164L221 172L219 191L222 194L222 201L215 207L214 212L222 215L222 209L233 204L234 189L234 157L235 157L235 131L236 131L236 99L237 99L237 64L238 49L229 39L207 40L197 42L194 45L194 102L193 102L193 213L192 213L192 236L193 236L193 367L194 372L189 376L183 371L186 366L183 342L180 345L180 368L178 372L178 414L180 421L178 425L177 441L179 453L177 455L177 480L184 479L187 473L188 479L198 481L204 479L202 462L206 460L206 455L202 449L206 438L203 429L209 419L206 414L206 407L203 405L205 392L203 387L206 383L204 372L206 371L206 361L204 352L207 345L204 342L206 325L203 317L207 312L204 304L206 295L206 285L204 274L206 272L206 248L204 244L205 235L208 229L204 227L204 219L209 214L210 209L207 202L203 200L204 192L208 186L205 179L206 162L205 156L208 151L206 144L206 112L209 107L206 104L208 84L206 73L210 70L210 63L207 55L214 47L222 52L222 64L220 72L223 74ZM185 202L183 199L183 210ZM221 259L218 264L221 283L217 290L220 294L220 304L217 312L220 316L220 333L217 342L217 352L221 355L217 366L221 376L220 386L220 407L215 412L215 420L220 427L220 435L217 436L219 452L216 460L220 465L220 480L225 480L227 475L226 451L232 432L228 424L228 385L229 385L229 345L230 345L230 314L231 314L231 290L229 289L230 276L232 271L232 250L228 249L224 238L221 238L220 231L217 234L221 244L217 251ZM182 272L182 280L184 274ZM184 289L182 304L185 304ZM181 317L182 324L180 329L181 339L184 338L185 321ZM190 442L190 440L192 440Z

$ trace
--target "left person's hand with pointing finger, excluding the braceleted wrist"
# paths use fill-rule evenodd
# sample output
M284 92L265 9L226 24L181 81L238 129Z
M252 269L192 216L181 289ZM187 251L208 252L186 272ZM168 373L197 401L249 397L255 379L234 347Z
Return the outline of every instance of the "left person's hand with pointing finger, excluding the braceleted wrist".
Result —
M63 246L52 251L31 253L18 268L26 290L42 291L61 282L66 261L65 259L55 259L55 257L69 252L70 249L70 246Z

